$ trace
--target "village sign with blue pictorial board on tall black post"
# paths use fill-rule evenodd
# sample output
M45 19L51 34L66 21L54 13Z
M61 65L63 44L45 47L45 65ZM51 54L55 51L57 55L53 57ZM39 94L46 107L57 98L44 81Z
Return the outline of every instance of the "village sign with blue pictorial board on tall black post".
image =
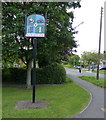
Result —
M37 39L45 37L45 18L42 15L33 14L27 17L25 37L33 38L33 70L32 70L32 103L35 103L36 85L36 51Z

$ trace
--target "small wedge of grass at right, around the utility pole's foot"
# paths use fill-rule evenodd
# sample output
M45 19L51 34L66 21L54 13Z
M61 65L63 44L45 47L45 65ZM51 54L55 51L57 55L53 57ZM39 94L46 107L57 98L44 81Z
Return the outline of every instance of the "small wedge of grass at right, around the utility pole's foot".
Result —
M80 76L79 78L91 82L99 87L106 88L106 80L103 78L100 78L99 80L97 80L96 77L91 76Z

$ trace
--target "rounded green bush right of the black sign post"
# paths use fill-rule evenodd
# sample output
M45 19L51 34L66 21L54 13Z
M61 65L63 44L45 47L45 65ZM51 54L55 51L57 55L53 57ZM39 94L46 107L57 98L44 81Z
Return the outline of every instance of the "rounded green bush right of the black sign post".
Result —
M58 63L52 63L44 68L37 69L37 83L61 84L66 81L66 71Z

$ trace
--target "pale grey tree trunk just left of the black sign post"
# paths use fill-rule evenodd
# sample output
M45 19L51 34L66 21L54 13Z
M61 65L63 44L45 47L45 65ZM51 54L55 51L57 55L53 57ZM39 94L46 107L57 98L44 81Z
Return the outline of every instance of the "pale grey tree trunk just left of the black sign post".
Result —
M32 68L31 62L28 62L28 65L27 65L27 78L26 78L27 88L31 88L31 68Z

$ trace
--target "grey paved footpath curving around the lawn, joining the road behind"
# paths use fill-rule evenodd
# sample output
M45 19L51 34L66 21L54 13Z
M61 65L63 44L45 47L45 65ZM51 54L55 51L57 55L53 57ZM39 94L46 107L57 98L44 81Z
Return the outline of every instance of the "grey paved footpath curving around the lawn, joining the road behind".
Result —
M78 70L65 68L67 76L74 80L81 87L85 88L92 95L92 100L89 106L75 118L104 118L104 112L101 108L104 108L104 92L106 89L97 87L96 85L89 83L85 80L78 78L78 76L95 76L94 73L83 72L79 73ZM100 77L104 77L100 75Z

